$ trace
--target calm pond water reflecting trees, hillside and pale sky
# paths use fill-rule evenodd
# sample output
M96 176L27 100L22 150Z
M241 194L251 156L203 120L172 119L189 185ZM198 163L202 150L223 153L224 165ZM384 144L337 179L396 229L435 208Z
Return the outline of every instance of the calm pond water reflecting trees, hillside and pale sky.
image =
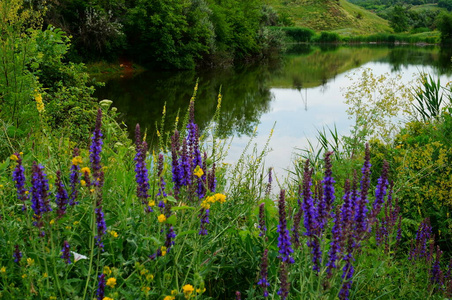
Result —
M351 121L346 114L344 88L347 75L357 68L374 74L402 73L413 80L420 71L452 80L452 53L437 47L298 47L281 58L259 65L208 71L152 72L107 81L97 91L100 99L113 100L130 129L140 123L155 139L155 123L166 103L166 123L171 128L176 113L185 112L196 80L196 122L204 128L213 116L217 95L223 95L221 132L234 136L226 162L234 163L258 126L255 139L262 148L276 122L266 166L284 174L296 148L315 142L318 129L336 126L348 134Z

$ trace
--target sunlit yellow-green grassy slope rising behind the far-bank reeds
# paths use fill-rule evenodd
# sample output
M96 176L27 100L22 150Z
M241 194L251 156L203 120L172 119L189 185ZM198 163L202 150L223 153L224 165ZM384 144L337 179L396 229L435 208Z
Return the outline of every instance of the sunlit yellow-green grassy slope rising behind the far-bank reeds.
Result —
M295 26L342 35L391 32L388 21L346 0L269 0L280 13L292 18Z

